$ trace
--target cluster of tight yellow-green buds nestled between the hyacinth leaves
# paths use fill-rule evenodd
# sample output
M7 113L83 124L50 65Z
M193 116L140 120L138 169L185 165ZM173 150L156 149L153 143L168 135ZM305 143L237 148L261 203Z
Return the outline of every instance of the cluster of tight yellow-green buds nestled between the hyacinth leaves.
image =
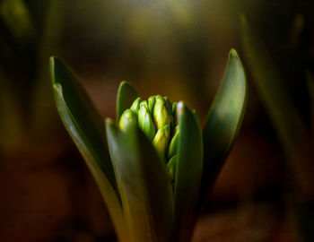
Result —
M120 129L126 130L128 124L136 122L153 143L161 159L168 162L176 156L179 142L176 105L176 102L172 103L170 99L160 95L152 96L148 100L137 98L120 117Z

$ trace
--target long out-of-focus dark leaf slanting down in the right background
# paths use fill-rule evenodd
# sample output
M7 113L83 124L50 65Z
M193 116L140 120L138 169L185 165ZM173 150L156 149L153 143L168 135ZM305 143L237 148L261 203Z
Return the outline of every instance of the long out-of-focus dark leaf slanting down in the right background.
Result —
M299 192L314 196L312 147L310 132L304 124L292 99L285 90L283 79L269 55L265 43L249 25L245 16L240 18L240 36L246 64L266 112L270 117L287 160L292 166ZM301 191L302 190L302 191Z

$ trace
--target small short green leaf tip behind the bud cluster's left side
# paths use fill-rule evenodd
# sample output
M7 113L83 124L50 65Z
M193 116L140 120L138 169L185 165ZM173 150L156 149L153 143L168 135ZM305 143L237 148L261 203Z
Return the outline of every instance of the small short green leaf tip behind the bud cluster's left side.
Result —
M117 122L123 112L132 106L136 98L138 98L138 94L131 84L128 82L121 82L118 87L117 95Z

